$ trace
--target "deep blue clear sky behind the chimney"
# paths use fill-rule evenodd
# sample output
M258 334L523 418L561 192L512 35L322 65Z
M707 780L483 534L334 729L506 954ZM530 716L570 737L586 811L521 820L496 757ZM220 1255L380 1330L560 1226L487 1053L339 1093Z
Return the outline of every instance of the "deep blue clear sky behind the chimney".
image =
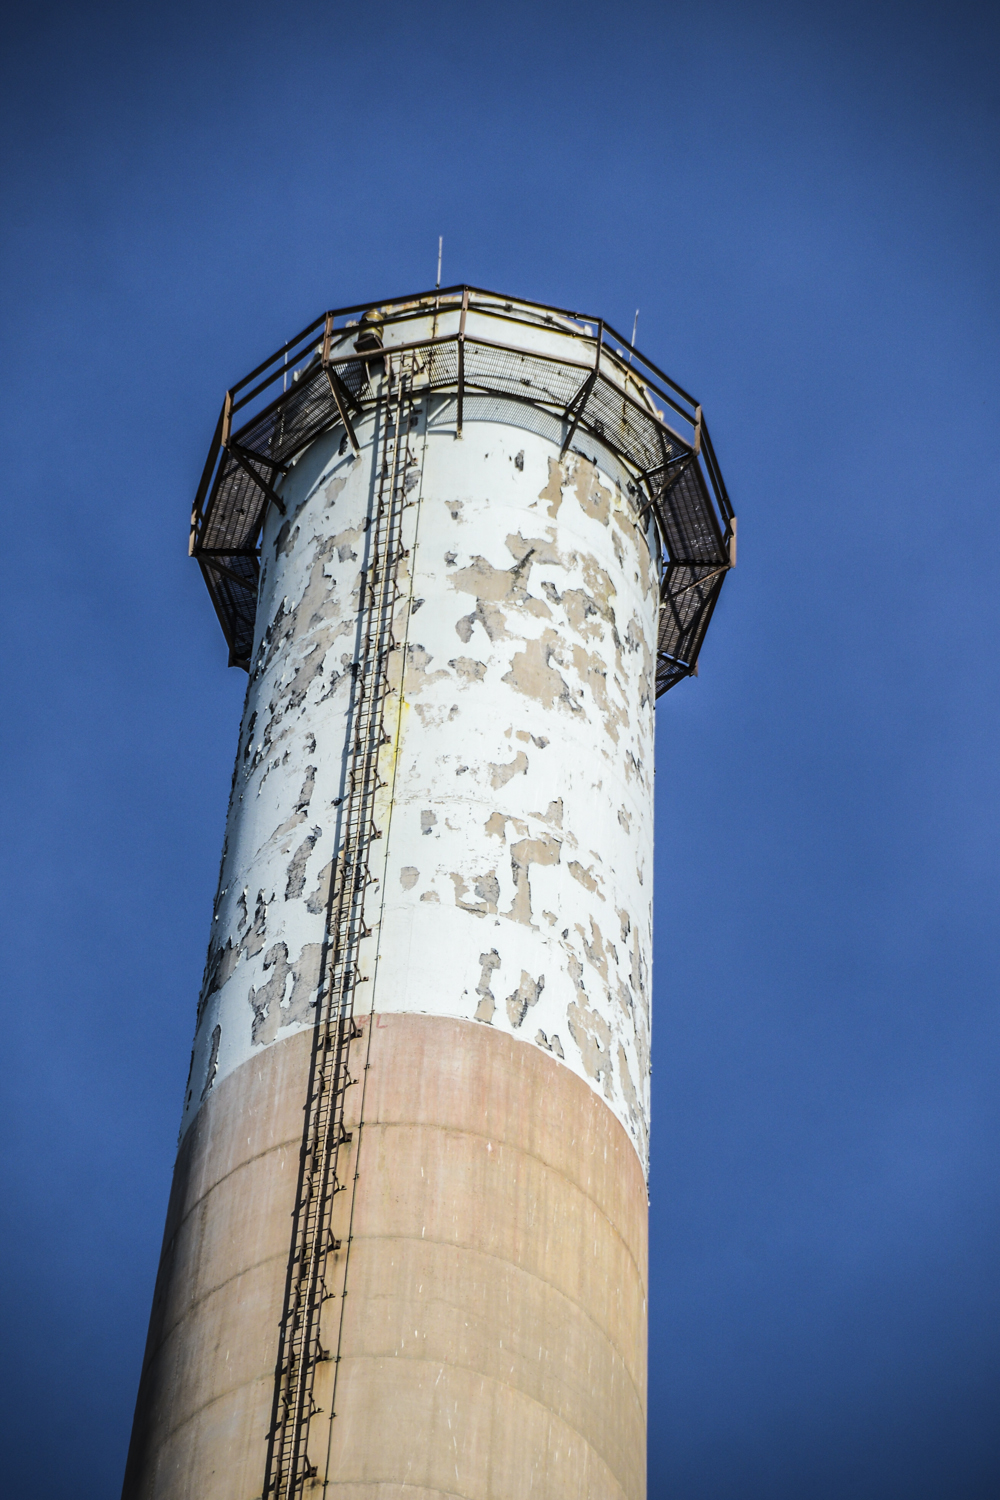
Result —
M1000 1492L987 6L28 4L0 52L12 1494L115 1494L241 674L222 392L444 278L595 312L741 522L658 710L651 1500Z

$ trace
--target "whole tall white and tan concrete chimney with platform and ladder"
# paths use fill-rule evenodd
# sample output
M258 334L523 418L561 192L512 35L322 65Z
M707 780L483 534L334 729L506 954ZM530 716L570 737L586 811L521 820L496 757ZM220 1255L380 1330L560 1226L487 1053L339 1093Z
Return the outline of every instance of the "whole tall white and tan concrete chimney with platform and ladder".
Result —
M192 519L249 687L124 1496L639 1500L654 702L732 510L598 320L361 314Z

